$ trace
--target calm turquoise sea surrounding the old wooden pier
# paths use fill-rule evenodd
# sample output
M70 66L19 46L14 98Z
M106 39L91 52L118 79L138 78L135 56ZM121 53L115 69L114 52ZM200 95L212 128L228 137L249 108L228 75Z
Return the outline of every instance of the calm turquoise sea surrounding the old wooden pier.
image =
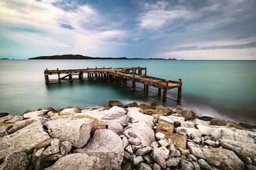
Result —
M23 113L52 106L99 106L109 99L129 103L161 103L150 88L146 98L138 85L122 88L106 81L74 81L45 85L44 69L147 66L147 74L170 80L182 78L182 107L198 115L256 124L256 61L230 60L0 60L0 112ZM56 78L50 76L50 78ZM167 105L175 108L177 89L169 90Z

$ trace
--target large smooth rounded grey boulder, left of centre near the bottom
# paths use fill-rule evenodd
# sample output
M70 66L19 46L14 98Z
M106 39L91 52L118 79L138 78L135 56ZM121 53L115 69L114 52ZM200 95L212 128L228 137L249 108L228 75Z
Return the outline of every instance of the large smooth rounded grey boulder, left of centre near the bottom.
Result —
M124 157L122 139L108 129L95 131L86 146L75 152L99 157L101 169L120 169Z

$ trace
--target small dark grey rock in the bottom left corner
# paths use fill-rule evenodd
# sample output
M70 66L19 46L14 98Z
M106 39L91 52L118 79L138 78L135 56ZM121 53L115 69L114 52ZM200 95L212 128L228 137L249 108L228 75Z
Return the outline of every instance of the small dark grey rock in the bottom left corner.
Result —
M13 152L8 155L3 164L1 164L1 170L26 170L28 168L29 159L28 155L24 152Z

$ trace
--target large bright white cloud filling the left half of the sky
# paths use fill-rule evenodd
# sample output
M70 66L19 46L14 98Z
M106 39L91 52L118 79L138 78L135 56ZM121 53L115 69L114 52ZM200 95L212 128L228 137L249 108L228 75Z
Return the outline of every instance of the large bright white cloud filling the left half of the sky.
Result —
M90 29L93 25L104 24L104 16L91 6L77 6L74 10L65 11L52 3L56 1L0 1L2 36L28 45L56 47L60 53L85 55L108 55L113 49L111 47L125 45L122 39L126 31ZM74 29L65 29L60 24L71 25ZM19 31L20 28L35 32Z

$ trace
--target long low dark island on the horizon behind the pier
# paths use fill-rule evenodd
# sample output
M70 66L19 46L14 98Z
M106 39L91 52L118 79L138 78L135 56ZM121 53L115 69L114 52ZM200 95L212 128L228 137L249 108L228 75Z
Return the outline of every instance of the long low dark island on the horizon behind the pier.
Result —
M89 57L84 55L51 55L51 56L40 56L29 58L29 60L177 60L177 59L160 59L160 58L149 58L149 59L140 59L140 58L127 58L127 57Z

